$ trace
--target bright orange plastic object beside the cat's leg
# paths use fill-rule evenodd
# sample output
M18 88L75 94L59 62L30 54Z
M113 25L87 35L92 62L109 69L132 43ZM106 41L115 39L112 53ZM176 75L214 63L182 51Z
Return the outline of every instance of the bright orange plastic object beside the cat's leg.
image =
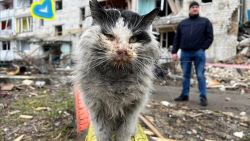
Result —
M82 93L79 87L74 87L74 96L75 96L77 134L80 134L89 128L90 117L88 110L82 101L81 98Z

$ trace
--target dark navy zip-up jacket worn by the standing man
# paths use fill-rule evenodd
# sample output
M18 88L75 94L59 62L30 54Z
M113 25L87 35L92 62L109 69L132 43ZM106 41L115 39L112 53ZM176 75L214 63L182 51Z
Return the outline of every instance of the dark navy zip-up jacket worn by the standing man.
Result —
M187 18L177 27L172 53L177 53L178 49L208 49L213 39L213 26L207 18Z

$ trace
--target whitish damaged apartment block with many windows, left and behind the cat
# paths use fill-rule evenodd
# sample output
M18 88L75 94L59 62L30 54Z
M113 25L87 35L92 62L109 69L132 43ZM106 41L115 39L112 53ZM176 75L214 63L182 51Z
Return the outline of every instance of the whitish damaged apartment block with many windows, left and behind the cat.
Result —
M89 0L55 0L54 21L31 16L30 6L36 1L40 0L0 0L0 61L34 58L67 66L72 48L92 23ZM134 3L135 0L100 0L106 8L135 9Z

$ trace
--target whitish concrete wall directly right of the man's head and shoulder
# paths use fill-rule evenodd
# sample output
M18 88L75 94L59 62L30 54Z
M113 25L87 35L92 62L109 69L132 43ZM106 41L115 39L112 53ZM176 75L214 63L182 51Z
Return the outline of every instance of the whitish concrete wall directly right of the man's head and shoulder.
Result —
M212 3L201 3L201 15L209 18L214 28L214 42L207 51L208 59L218 61L236 55L239 4L239 0L213 0ZM233 19L234 12L237 17ZM230 33L231 28L235 28L236 31Z

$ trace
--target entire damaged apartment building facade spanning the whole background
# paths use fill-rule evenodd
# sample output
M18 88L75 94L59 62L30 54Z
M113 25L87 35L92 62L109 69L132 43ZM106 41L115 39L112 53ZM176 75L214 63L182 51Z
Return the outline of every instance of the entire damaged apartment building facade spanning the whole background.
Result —
M51 62L69 57L81 33L91 24L89 0L54 0L54 21L32 18L30 5L34 1L39 0L0 0L0 61L31 57ZM159 33L161 47L166 48L173 44L178 23L188 17L191 1L99 0L104 7L129 9L141 15L159 8L160 18L153 23L153 29ZM209 18L214 27L215 40L207 58L224 60L236 55L239 20L248 20L249 0L197 1L201 15Z

